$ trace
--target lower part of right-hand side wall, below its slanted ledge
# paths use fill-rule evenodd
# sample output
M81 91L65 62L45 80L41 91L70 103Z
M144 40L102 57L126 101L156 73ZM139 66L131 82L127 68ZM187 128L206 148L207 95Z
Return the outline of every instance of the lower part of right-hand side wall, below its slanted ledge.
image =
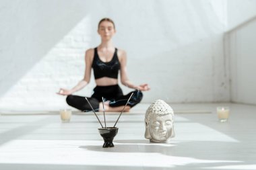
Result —
M256 17L226 36L230 57L231 99L256 104Z

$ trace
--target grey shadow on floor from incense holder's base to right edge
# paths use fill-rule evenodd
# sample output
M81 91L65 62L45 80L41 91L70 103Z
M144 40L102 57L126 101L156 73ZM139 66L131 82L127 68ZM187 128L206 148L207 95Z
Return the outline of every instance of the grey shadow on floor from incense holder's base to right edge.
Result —
M170 156L170 161L173 157L179 160L195 159L193 165L189 164L189 168L195 169L255 164L254 153L243 153L240 148L244 144L241 142L191 141L156 144L150 143L148 140L117 140L114 143L115 147L113 148L102 148L100 146L79 146L79 148L109 153L160 153ZM247 157L247 161L241 161L245 160L245 157ZM175 169L183 168L175 167Z

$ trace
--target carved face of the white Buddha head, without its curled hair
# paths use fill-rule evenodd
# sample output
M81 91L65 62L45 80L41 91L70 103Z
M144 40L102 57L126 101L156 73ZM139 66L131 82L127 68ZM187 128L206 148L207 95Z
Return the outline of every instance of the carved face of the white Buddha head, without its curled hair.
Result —
M148 124L152 142L166 142L172 136L173 118L171 114L165 116L152 115Z

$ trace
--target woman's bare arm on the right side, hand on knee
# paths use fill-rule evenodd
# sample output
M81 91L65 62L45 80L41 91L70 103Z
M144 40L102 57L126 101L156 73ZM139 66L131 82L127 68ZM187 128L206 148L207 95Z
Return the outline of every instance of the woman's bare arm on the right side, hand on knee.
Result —
M119 56L120 56L120 64L121 64L121 83L131 89L137 89L140 91L148 91L150 90L150 87L148 84L142 84L142 85L134 85L131 83L131 81L128 79L127 76L127 55L124 50L119 50Z

